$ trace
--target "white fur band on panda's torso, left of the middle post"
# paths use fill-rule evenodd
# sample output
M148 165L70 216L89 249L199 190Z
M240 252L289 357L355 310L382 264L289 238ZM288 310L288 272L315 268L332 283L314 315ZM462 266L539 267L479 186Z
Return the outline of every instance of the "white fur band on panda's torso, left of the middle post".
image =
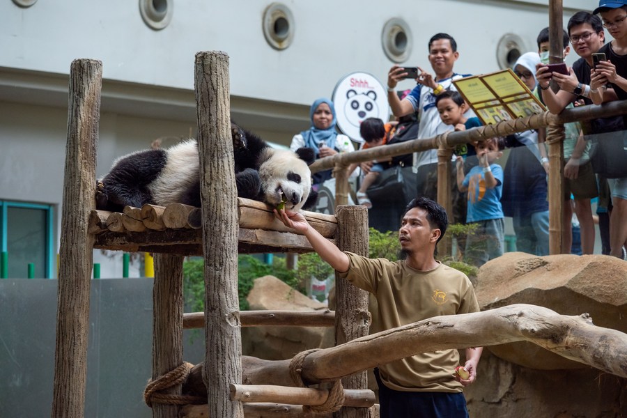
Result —
M196 139L167 148L167 163L148 185L155 202L162 206L180 202L183 191L192 187L199 178L198 143Z

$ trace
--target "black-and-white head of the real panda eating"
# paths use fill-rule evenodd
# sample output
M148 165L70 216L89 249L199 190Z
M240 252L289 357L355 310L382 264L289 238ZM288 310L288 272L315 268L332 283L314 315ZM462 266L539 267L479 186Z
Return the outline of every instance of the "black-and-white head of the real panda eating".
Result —
M277 206L285 196L286 210L297 212L311 206L315 201L311 191L311 162L314 162L311 148L299 148L296 152L265 148L258 170L265 203Z

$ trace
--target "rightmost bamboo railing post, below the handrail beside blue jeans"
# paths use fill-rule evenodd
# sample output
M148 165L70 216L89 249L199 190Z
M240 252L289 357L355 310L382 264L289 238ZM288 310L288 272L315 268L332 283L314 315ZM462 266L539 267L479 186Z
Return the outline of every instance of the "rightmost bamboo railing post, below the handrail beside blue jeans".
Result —
M564 231L564 125L546 129L549 158L549 253L562 254ZM570 253L571 251L568 251Z

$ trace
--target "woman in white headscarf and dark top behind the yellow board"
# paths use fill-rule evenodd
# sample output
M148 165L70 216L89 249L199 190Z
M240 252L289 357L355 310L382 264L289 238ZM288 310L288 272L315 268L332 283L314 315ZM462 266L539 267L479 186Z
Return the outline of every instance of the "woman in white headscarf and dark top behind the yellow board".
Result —
M537 52L527 52L513 66L514 73L532 92L536 88L539 63ZM506 137L506 146L513 148L504 169L501 203L504 215L513 219L517 251L545 256L549 254L548 187L538 139L537 130Z

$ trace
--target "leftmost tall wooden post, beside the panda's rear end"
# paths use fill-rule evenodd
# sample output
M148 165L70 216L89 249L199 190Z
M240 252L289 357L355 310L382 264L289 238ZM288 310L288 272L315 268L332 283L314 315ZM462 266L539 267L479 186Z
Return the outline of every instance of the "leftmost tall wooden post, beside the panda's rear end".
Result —
M83 417L87 377L89 288L94 235L95 162L100 121L102 63L72 61L65 148L59 291L56 309L52 417Z

